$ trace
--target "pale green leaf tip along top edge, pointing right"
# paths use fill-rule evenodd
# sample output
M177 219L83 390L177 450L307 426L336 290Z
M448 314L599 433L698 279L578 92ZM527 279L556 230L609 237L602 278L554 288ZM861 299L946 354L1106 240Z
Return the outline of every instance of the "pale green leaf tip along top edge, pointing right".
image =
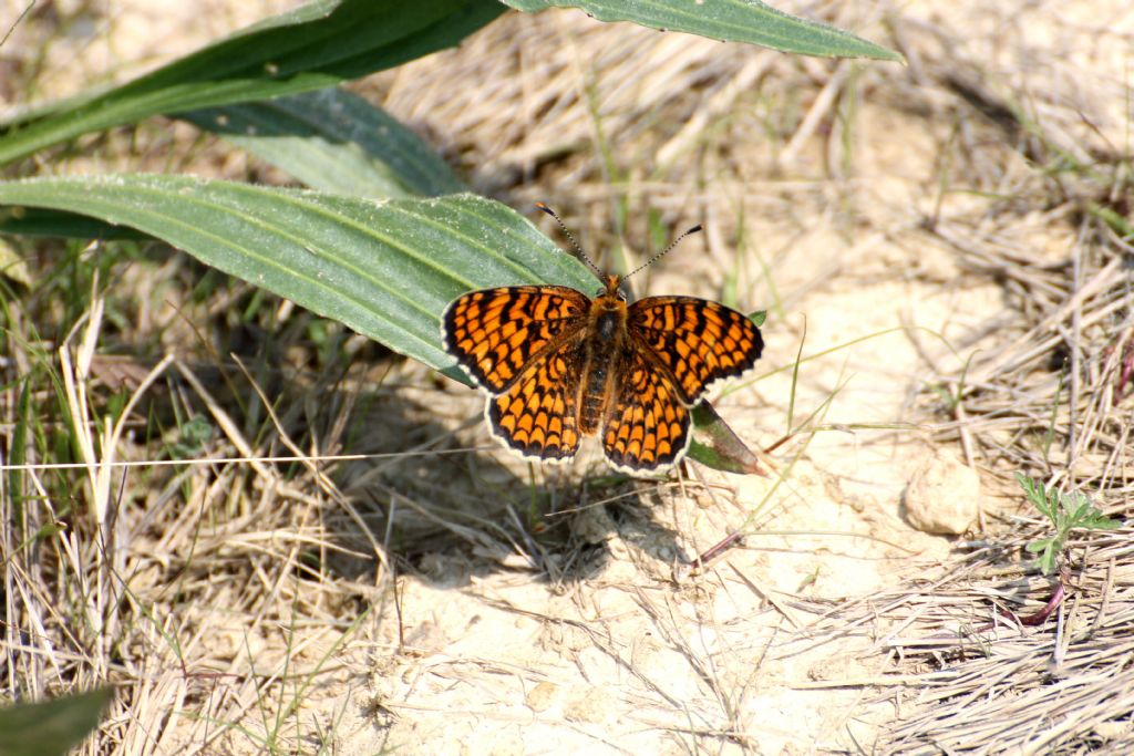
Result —
M849 32L789 16L759 0L502 0L513 8L536 11L552 6L579 8L603 22L633 22L642 26L688 32L723 42L747 42L782 52L828 58L878 58L902 61L902 56L866 42Z

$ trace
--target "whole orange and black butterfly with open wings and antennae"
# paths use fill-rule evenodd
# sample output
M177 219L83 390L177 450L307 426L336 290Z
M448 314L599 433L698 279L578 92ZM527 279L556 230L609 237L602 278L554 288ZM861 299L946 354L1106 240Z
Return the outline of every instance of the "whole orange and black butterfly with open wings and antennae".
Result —
M689 410L709 387L755 364L760 329L706 299L627 304L628 277L603 275L583 258L602 281L594 298L562 286L472 291L445 311L445 348L488 391L492 435L524 457L566 460L583 436L598 435L619 470L667 468L688 449Z

